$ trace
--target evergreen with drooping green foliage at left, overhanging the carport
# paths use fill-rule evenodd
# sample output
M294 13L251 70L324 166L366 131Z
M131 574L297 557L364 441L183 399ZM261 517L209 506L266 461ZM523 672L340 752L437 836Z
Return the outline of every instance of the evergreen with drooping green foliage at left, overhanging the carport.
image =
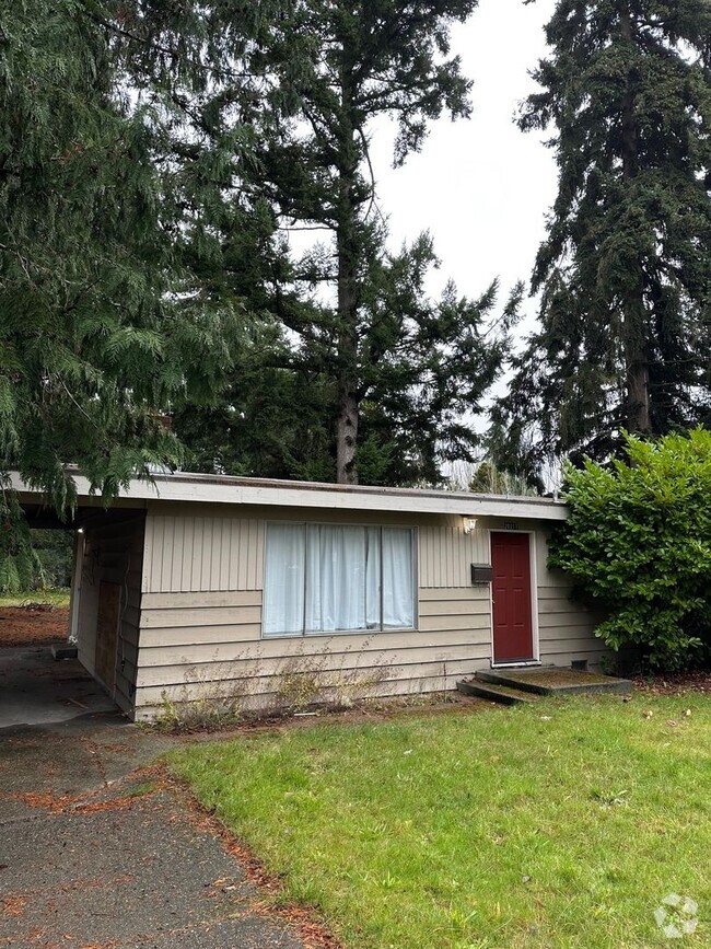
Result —
M79 0L0 11L2 585L31 563L10 470L61 514L70 463L108 499L179 459L164 412L219 385L229 363L230 314L177 294L179 188L154 164L153 115L113 62L110 13Z

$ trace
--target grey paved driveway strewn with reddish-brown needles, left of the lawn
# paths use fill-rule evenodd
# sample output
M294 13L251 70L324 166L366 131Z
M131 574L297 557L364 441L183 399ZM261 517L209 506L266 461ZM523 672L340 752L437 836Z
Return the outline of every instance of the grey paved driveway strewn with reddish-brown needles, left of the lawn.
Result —
M72 675L85 705L91 681ZM115 710L73 706L58 721L51 702L49 721L19 724L14 701L3 727L8 684L5 675L0 947L305 949L294 928L260 910L244 869L150 767L168 739Z

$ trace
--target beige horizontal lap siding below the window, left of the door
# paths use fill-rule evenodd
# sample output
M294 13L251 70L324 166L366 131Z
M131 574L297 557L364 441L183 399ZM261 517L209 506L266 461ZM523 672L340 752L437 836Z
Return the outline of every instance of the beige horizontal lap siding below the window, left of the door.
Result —
M452 688L488 663L488 591L423 589L413 632L261 638L261 593L144 593L137 715L165 694L189 701L219 687L268 704L284 674L370 683L369 694ZM219 686L215 686L219 683Z

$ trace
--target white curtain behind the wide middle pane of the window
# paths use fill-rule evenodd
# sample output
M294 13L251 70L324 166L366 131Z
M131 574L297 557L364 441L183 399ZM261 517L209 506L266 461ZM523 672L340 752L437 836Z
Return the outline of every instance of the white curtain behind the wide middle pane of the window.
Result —
M306 528L306 633L380 626L380 531Z

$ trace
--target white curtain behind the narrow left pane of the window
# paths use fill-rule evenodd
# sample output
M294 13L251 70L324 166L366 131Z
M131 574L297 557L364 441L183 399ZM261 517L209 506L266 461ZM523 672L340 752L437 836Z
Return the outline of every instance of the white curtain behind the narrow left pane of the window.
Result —
M265 636L304 632L305 547L303 524L267 524Z

